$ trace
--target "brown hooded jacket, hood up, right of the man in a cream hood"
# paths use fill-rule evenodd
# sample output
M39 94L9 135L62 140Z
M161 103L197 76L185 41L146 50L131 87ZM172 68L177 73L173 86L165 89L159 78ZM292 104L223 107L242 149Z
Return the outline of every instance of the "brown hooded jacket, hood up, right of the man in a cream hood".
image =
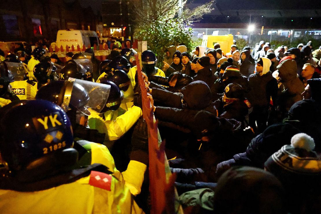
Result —
M297 64L294 60L287 59L277 66L282 86L278 92L278 104L281 111L288 111L291 106L302 99L304 84L297 77Z

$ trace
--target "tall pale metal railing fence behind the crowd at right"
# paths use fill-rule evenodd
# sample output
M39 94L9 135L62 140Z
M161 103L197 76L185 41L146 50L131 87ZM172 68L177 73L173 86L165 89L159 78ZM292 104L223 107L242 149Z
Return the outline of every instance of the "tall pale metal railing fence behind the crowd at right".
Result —
M298 39L308 40L310 38L321 40L321 29L248 29L237 28L195 28L192 40L194 42L203 38L203 35L226 35L232 34L234 39L245 39L247 45L255 47L255 43L264 41L289 41L290 44Z

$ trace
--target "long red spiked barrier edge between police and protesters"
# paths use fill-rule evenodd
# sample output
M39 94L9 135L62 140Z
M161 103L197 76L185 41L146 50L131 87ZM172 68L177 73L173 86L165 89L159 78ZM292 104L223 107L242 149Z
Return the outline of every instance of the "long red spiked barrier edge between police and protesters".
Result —
M176 175L169 176L166 182L165 173L165 142L159 147L157 121L155 121L153 109L142 76L138 55L135 55L137 65L138 84L142 91L143 118L148 126L148 152L149 152L149 190L151 193L151 213L174 213L175 211L175 187ZM137 84L136 83L136 84Z

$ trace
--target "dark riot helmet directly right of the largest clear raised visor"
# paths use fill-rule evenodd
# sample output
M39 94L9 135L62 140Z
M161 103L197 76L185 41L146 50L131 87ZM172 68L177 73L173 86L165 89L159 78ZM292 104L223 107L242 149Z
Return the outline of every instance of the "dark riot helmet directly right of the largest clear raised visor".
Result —
M112 81L103 80L101 83L110 85L110 93L107 99L107 103L100 113L106 112L108 110L117 110L124 98L124 93L119 90L118 86Z

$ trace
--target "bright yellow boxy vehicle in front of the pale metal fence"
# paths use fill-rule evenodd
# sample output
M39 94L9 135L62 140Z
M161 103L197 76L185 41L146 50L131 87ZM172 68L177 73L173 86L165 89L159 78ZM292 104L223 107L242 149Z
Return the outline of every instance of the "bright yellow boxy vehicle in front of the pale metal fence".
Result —
M220 43L221 49L224 53L230 52L231 45L233 45L233 35L211 36L203 35L202 46L214 48L215 43Z

